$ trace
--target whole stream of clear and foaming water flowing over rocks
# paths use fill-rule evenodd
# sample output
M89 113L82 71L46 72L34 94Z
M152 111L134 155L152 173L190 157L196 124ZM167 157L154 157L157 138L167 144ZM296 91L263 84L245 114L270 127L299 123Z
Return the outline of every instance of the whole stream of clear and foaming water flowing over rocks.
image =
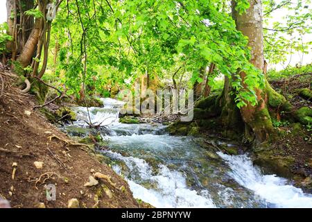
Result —
M312 207L311 194L263 175L247 155L215 153L204 139L168 135L161 124L119 123L123 103L103 102L103 108L89 108L89 116L87 108L75 108L78 121L65 130L86 135L89 118L105 126L101 135L109 145L101 152L135 198L155 207Z

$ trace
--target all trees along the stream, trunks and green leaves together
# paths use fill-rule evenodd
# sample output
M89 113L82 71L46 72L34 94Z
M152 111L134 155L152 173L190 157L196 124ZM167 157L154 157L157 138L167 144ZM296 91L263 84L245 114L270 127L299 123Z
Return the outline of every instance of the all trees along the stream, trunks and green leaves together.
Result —
M290 28L274 24L264 29L263 39L262 15L293 3L263 5L264 13L261 1L254 0L8 0L12 41L3 53L26 78L43 76L80 100L94 93L114 96L142 75L148 85L196 86L201 98L209 96L217 76L225 76L215 101L224 126L243 122L245 136L262 142L272 131L271 117L290 109L266 81L263 52L275 61L282 58L268 47L279 35L269 41L268 32L311 30L303 24L311 16L298 14L306 8L298 1L287 20Z

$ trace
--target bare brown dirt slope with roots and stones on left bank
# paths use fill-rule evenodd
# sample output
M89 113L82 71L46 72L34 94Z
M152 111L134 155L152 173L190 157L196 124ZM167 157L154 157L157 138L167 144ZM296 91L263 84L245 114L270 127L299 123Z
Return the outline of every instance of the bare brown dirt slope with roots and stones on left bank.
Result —
M35 98L12 86L14 74L1 71L0 77L0 199L11 207L67 207L71 198L80 207L139 207L123 178L33 110ZM85 187L96 172L110 179ZM46 199L49 184L55 201Z

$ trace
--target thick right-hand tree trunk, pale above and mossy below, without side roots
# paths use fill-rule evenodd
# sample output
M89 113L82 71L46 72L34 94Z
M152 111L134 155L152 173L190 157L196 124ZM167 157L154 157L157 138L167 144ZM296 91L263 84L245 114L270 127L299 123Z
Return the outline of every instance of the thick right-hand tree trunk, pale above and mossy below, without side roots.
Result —
M260 0L250 0L250 8L243 14L235 10L236 1L232 1L232 17L235 20L237 30L249 38L248 45L251 48L252 58L250 62L260 70L263 70L263 27L262 5ZM246 74L240 73L242 80ZM244 84L244 83L243 83ZM255 89L258 105L248 103L241 108L241 115L245 122L245 136L254 135L256 142L263 142L270 138L272 133L272 121L267 108L266 90Z

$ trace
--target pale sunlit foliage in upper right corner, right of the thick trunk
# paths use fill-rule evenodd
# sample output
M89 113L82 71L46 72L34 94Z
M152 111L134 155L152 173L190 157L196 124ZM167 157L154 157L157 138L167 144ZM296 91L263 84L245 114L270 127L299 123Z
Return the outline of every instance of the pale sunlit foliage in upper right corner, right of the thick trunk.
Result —
M273 15L284 16L274 20ZM294 53L300 57L309 53L312 42L305 35L312 32L310 0L263 0L263 23L264 52L270 64L286 62Z

